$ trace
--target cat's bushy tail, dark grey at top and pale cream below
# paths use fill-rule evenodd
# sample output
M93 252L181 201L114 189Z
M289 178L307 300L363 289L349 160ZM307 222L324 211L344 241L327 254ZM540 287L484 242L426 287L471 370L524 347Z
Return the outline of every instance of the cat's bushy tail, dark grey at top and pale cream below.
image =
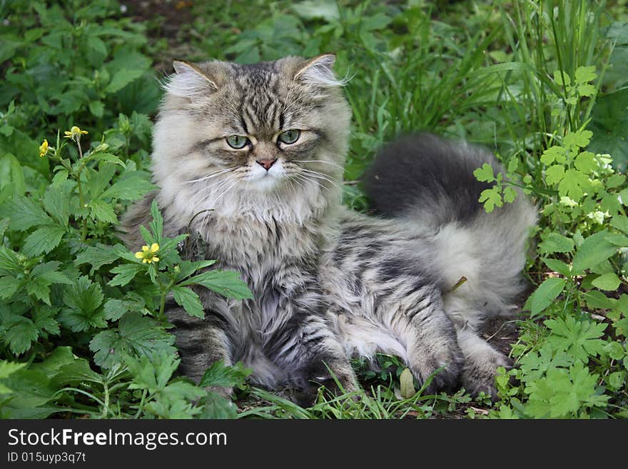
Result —
M426 263L442 284L445 310L473 327L510 311L525 288L527 238L537 219L520 191L513 203L485 211L478 198L492 184L473 176L483 163L503 173L484 148L420 133L385 146L365 177L373 208L430 245Z

